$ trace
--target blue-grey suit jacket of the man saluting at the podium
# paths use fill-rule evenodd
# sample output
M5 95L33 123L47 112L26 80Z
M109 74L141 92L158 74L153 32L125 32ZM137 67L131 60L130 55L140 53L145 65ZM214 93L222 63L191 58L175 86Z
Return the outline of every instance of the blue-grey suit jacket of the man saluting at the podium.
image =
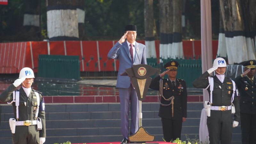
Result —
M131 68L132 65L147 64L145 45L136 42L135 51L137 53L135 52L133 63L126 41L122 44L117 42L108 52L108 58L119 60L119 69L116 83L117 88L128 88L131 84L129 76L120 76L120 74L122 74L125 69Z

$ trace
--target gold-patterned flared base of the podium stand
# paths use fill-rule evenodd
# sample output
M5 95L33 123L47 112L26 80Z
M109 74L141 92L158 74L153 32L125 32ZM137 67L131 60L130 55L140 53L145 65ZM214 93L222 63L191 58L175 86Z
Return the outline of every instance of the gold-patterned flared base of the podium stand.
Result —
M133 135L128 137L130 142L145 143L146 141L154 141L155 136L149 134L144 127L140 127L139 130ZM152 143L153 144L153 143ZM155 143L154 143L155 144Z

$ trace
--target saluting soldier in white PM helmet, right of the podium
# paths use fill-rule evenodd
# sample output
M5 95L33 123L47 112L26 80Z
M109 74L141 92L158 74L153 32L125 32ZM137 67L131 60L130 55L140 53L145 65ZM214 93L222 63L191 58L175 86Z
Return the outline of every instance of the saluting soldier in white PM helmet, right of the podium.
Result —
M227 63L223 58L216 58L213 67L198 77L193 85L207 89L210 101L204 102L207 112L207 127L211 144L230 144L232 127L240 120L237 88L233 80L225 77ZM210 76L215 71L215 76ZM234 115L234 121L232 119Z

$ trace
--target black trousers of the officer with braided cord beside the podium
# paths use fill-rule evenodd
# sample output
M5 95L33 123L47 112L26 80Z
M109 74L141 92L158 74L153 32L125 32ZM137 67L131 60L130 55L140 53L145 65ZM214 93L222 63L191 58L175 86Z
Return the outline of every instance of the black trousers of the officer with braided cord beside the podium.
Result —
M162 118L162 126L164 133L164 140L170 142L171 140L176 140L180 138L182 119L171 120L167 118Z

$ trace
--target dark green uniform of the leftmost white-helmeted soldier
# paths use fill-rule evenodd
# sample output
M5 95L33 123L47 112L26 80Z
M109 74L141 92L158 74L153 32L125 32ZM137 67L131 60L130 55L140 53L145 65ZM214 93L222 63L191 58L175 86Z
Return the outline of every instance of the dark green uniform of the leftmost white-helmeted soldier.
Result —
M4 92L0 95L1 102L11 102L13 100L12 92L16 90L16 87L11 84ZM16 121L26 121L26 120L36 120L36 108L37 108L37 100L35 90L31 90L29 97L24 92L23 88L20 88L20 104L19 104L19 119L16 119L16 106L15 102L12 103L14 110L14 117ZM43 95L41 92L38 92L40 97L40 106L44 107L42 104ZM42 106L41 106L42 104ZM37 144L39 143L39 137L46 137L46 129L45 129L45 112L40 110L38 112L38 117L42 120L42 130L37 130L37 125L30 126L17 126L15 129L15 133L12 134L12 143L13 144Z

